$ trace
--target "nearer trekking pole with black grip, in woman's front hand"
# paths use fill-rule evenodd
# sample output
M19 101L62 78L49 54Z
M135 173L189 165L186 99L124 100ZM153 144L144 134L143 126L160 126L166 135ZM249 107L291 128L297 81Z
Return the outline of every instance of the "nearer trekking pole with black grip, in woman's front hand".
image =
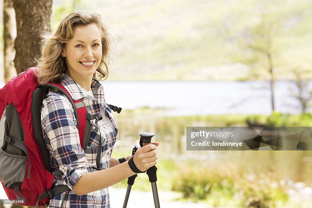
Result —
M150 144L152 137L154 137L155 134L153 133L141 133L140 134L140 145L141 147ZM156 185L156 181L157 181L157 176L156 176L156 171L157 171L157 167L153 166L150 167L146 174L149 176L149 182L151 182L152 184L152 191L153 191L153 197L154 197L154 204L155 204L155 208L160 208L159 205L159 198L158 198L158 191L157 191L157 185Z

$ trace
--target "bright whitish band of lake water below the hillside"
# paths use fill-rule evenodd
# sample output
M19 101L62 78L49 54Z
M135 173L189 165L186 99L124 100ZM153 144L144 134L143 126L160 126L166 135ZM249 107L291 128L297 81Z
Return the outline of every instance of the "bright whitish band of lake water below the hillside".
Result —
M271 114L264 81L103 81L105 99L123 109L168 108L167 115ZM3 86L0 85L0 86ZM275 109L300 113L295 82L275 82Z

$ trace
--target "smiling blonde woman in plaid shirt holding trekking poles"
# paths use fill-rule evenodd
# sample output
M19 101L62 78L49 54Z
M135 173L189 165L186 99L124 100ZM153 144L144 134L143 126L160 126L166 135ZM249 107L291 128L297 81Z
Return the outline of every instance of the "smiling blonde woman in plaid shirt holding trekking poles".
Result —
M133 165L144 172L156 164L159 143L139 148L132 159L131 155L124 159L111 157L118 129L105 103L103 86L96 80L108 75L109 50L108 33L97 14L71 13L54 34L43 36L38 82L60 82L74 100L82 99L89 113L103 115L102 120L92 120L90 139L83 150L69 100L56 89L50 89L44 99L41 123L52 170L59 168L64 174L53 184L72 190L51 198L49 207L110 207L108 186L134 175ZM103 144L102 170L96 171L99 139Z

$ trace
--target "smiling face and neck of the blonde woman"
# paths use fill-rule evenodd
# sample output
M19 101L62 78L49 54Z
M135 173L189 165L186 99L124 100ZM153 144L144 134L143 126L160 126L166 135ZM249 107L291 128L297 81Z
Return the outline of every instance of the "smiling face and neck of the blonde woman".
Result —
M76 26L74 36L65 44L61 55L66 60L65 74L90 90L93 74L102 59L100 29L95 24Z

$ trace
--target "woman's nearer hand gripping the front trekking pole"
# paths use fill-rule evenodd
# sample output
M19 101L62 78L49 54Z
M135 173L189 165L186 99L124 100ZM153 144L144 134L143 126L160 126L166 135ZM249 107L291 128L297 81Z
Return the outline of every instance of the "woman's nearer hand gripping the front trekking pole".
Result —
M135 152L133 156L133 162L140 171L144 172L157 163L156 147L158 145L159 145L158 142L152 142L151 144L147 144L139 148ZM127 156L127 158L128 157L129 155ZM130 158L131 157L129 157L129 159Z

